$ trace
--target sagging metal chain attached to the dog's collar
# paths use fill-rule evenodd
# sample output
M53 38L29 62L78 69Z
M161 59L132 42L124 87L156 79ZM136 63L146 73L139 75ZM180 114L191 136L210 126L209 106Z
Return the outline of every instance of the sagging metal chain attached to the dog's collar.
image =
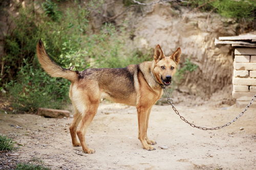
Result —
M185 122L187 123L188 125L190 125L191 127L193 128L198 128L198 129L201 129L201 130L217 130L217 129L221 129L221 128L224 128L226 126L229 126L231 125L231 123L235 122L239 117L241 117L244 112L246 110L249 109L250 105L253 103L254 99L256 98L256 94L252 97L250 103L244 108L244 110L237 116L235 117L234 119L232 119L229 123L225 124L225 125L222 125L222 126L218 126L218 127L215 127L215 128L205 128L205 127L200 127L200 126L196 126L195 124L192 124L190 122L188 122L183 116L180 115L180 113L178 112L178 110L174 107L174 104L173 104L173 100L170 99L170 96L169 96L169 93L167 92L166 88L163 87L163 90L164 90L164 93L166 95L166 98L167 98L167 103L172 105L173 107L173 110L175 111L176 114L178 114L180 116L180 118Z

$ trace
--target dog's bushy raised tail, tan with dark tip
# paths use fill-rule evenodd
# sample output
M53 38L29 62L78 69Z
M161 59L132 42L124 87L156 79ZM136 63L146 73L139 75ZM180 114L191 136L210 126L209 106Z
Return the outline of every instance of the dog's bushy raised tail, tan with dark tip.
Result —
M62 68L57 65L46 53L45 46L41 40L36 46L36 54L42 68L52 77L62 77L75 82L77 80L77 72L70 69Z

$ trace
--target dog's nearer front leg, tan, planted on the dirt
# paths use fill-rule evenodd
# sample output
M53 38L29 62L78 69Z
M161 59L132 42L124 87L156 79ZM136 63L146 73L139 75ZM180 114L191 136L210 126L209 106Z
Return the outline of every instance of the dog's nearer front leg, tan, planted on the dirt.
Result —
M137 112L138 112L138 123L139 123L139 139L141 141L141 144L144 149L147 151L153 151L156 150L151 145L149 145L146 141L146 120L147 120L147 113L150 111L151 107L145 107L145 106L138 106Z

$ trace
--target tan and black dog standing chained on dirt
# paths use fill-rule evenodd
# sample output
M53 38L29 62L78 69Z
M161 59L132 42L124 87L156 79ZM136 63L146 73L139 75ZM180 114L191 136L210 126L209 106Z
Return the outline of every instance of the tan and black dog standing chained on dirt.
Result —
M155 150L152 145L156 141L147 137L148 118L152 106L163 94L163 87L172 82L180 62L180 47L166 57L160 45L157 45L153 61L125 68L88 68L84 71L73 71L57 65L48 56L41 40L37 43L36 53L41 67L50 76L71 81L69 97L74 107L74 119L69 129L74 147L81 146L88 154L95 152L88 148L85 136L103 97L115 103L136 106L138 138L143 149Z

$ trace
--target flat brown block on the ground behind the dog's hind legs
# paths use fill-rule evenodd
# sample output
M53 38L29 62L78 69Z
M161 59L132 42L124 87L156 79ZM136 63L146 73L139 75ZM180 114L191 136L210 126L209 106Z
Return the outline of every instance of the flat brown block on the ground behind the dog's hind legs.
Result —
M48 109L48 108L38 108L37 114L40 116L51 117L51 118L63 118L63 117L69 117L70 111L58 110L58 109Z

